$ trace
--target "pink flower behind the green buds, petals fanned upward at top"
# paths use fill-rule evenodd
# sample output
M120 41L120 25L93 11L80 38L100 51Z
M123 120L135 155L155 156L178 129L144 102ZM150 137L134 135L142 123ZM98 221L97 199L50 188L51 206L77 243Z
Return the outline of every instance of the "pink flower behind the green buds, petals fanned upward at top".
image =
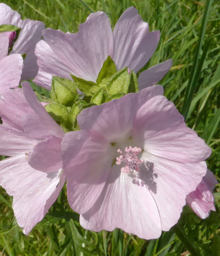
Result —
M107 56L112 57L118 70L128 67L138 72L156 50L160 31L149 32L149 25L130 7L119 18L113 32L106 13L97 12L80 24L76 34L46 29L43 37L45 41L36 45L39 72L34 81L50 90L53 75L71 79L73 74L95 82ZM157 83L171 65L169 59L142 72L139 88Z

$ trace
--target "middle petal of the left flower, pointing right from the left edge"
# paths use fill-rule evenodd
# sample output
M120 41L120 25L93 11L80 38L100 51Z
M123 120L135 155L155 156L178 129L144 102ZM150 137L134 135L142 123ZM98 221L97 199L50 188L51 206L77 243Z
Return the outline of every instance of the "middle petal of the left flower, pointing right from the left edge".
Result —
M25 153L29 154L39 142L27 134L4 124L0 125L0 134L0 155L17 156L25 155Z

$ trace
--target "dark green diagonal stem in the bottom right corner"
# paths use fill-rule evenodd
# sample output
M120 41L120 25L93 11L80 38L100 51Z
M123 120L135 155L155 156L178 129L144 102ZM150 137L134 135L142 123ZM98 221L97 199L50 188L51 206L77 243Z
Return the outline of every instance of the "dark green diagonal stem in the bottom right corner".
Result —
M196 250L196 248L190 242L185 231L180 227L179 224L177 224L173 227L173 231L175 232L175 234L179 237L180 241L184 244L184 246L189 250L189 252L193 256L201 256L201 254Z

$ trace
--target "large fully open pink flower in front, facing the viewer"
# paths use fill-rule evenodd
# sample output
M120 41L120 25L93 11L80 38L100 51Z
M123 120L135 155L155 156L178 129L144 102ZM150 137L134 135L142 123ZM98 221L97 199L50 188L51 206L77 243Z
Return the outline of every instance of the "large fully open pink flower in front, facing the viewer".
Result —
M86 108L65 134L68 201L84 228L157 238L205 176L210 148L162 94L155 85Z

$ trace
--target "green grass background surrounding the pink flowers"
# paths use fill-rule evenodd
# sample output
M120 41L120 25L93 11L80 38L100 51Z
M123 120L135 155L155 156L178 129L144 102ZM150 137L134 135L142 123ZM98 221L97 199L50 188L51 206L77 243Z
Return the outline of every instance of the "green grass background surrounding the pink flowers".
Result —
M160 82L165 95L184 115L186 123L212 148L208 168L220 177L220 1L212 0L6 0L23 19L41 20L46 27L77 32L91 12L108 14L112 26L130 6L139 10L150 30L161 39L147 63L173 59L171 71ZM122 230L85 231L69 208L62 190L45 219L29 236L23 235L13 215L12 198L0 188L0 255L115 255L220 256L219 186L216 209L200 220L189 208L177 226L158 239L146 241ZM128 224L129 225L129 224ZM177 235L178 236L177 236ZM190 253L190 252L192 253Z

